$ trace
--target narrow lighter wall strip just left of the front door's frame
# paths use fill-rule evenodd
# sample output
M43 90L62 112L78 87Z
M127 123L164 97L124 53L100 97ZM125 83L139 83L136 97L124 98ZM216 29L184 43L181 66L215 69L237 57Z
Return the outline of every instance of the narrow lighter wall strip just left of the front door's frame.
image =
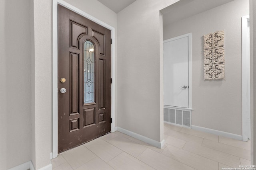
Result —
M52 152L52 0L34 1L33 43L32 162L38 169L50 164Z

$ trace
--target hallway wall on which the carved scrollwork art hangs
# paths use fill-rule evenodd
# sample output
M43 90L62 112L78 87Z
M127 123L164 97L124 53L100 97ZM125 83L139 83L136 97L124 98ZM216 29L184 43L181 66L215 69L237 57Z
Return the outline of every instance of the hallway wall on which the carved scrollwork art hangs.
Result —
M248 14L249 0L234 0L164 26L164 39L192 32L192 125L242 135L241 17ZM203 35L222 29L226 78L204 80Z

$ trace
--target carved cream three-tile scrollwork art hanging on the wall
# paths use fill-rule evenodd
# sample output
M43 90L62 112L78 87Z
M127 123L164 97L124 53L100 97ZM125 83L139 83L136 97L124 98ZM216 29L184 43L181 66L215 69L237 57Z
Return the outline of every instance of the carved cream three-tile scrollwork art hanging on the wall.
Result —
M204 80L225 78L224 30L204 35Z

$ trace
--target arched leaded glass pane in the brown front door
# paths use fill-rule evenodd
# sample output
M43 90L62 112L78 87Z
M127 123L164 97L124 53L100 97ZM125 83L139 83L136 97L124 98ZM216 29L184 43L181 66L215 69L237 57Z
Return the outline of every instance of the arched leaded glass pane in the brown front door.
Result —
M84 42L84 104L94 102L94 45Z

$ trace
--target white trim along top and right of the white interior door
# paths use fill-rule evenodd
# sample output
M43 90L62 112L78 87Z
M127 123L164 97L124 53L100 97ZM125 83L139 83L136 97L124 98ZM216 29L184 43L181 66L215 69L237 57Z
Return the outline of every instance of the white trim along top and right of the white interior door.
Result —
M178 37L166 39L163 41L163 43L174 41L184 37L188 37L188 109L192 109L192 33L187 33Z

